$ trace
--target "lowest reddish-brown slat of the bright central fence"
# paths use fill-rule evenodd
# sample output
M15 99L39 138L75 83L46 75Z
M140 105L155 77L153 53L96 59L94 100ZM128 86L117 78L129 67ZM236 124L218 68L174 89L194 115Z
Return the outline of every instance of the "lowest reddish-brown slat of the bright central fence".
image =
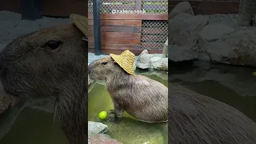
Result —
M94 42L89 42L88 46L89 48L94 49ZM102 43L102 50L140 50L140 48L140 45Z

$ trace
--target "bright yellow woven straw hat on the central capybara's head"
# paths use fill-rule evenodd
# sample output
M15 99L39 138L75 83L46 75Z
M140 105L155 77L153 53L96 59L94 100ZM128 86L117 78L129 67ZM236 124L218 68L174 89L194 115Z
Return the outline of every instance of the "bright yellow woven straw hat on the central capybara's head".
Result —
M135 55L129 50L125 50L120 55L110 54L110 57L118 63L128 74L134 74Z

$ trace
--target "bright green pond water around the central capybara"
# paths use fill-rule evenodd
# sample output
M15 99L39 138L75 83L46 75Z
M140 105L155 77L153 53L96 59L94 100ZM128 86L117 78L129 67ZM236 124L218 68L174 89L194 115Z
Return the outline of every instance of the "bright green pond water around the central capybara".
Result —
M137 73L142 73L138 72ZM163 75L167 76L166 71L160 71ZM168 86L168 81L162 79L156 75L148 75L148 78L152 78L158 82L162 82L165 86ZM101 84L95 84L93 89L89 93L89 109L88 120L94 122L102 122L109 126L110 137L117 139L124 144L166 144L168 138L167 122L165 123L146 123L139 122L129 114L125 113L121 122L106 122L101 121L98 118L98 113L102 110L114 109L110 95L108 94L105 86Z

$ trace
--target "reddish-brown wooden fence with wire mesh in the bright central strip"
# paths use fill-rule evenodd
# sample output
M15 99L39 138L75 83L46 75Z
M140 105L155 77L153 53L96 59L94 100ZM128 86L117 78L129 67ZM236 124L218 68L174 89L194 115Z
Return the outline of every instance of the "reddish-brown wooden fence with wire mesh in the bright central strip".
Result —
M123 0L122 0L123 1ZM126 0L131 2L135 0ZM143 0L147 2L153 2L158 0ZM142 6L142 0L137 0L134 5L134 10L150 10L160 8ZM167 0L161 0L167 2ZM105 0L106 2L106 0ZM90 7L90 6L89 6ZM102 6L104 10L109 9L106 6ZM101 8L102 8L101 7ZM120 5L115 10L126 10L127 6ZM146 8L145 8L146 7ZM167 5L166 5L167 7ZM133 9L133 6L130 6ZM101 50L103 54L121 54L124 50L130 50L135 55L138 55L142 50L149 50L150 53L162 53L162 47L164 41L167 38L162 38L161 34L167 34L168 30L154 29L152 26L144 26L143 23L147 21L154 21L158 24L161 21L165 21L167 25L168 14L110 14L101 13ZM88 14L88 39L89 39L89 52L94 53L94 18L93 14ZM162 39L162 43L154 42L152 39ZM158 50L155 47L160 47Z

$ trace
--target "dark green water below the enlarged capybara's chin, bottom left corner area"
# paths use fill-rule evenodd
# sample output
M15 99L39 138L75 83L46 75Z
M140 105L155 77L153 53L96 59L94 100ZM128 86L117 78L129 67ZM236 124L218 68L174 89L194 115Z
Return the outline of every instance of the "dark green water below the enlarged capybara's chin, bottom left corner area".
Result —
M1 144L68 144L54 124L54 114L27 108L16 119Z

